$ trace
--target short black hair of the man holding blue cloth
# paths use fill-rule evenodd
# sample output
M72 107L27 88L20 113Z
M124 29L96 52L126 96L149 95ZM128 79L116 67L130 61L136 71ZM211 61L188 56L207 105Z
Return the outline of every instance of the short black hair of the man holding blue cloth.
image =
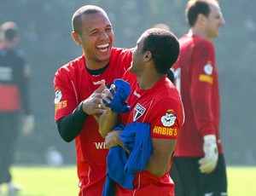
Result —
M170 31L151 28L144 39L143 53L150 51L153 56L154 68L157 72L166 74L177 61L179 43L177 37Z

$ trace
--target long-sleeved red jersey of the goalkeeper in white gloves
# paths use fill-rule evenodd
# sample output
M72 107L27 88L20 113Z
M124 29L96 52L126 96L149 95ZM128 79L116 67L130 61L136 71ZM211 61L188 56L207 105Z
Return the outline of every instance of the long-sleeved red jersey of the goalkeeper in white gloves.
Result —
M207 39L195 35L184 35L179 44L179 59L172 68L186 119L177 136L174 156L204 156L204 135L216 135L218 153L223 153L218 130L220 101L214 47Z

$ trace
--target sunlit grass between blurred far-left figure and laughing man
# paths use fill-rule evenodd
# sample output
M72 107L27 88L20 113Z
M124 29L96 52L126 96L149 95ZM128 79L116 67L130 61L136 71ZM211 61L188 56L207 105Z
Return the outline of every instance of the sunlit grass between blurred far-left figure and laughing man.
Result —
M12 174L15 184L22 188L19 196L76 196L79 193L75 166L15 166Z

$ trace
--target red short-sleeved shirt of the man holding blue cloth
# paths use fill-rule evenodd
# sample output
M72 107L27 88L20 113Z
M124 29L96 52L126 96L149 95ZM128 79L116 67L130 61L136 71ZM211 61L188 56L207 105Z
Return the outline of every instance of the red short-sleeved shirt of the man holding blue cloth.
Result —
M175 86L168 78L162 78L152 89L140 89L136 76L130 71L123 77L131 84L131 95L127 102L131 112L121 114L122 124L134 121L151 125L151 137L176 140L177 133L183 124L183 104ZM147 170L138 172L133 185L128 190L117 185L117 195L174 195L174 184L169 175L172 159L166 174L157 177Z

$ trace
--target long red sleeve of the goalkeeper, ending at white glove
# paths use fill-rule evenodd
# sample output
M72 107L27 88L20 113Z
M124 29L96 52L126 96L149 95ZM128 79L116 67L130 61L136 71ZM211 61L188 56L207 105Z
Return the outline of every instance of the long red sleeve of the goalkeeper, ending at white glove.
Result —
M215 82L217 71L212 43L203 41L197 44L193 57L193 65L189 69L191 72L190 99L195 113L195 124L202 135L215 134L212 84Z

